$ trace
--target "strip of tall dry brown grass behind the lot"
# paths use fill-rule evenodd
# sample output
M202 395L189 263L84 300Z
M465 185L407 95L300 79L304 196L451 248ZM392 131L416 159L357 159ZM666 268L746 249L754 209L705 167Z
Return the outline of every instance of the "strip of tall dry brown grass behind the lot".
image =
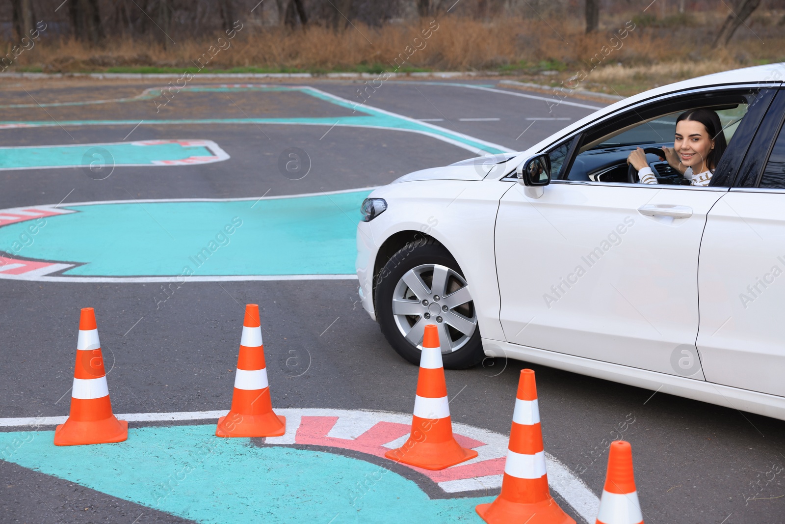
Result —
M358 25L340 32L325 27L289 31L246 25L232 46L211 57L206 68L239 72L395 71L396 66L400 71L492 70L551 85L583 71L586 80L581 85L586 89L630 94L714 71L785 60L785 35L782 27L772 23L780 19L780 13L756 13L751 24L754 33L742 27L732 44L719 50L710 49L711 36L721 22L719 15L701 13L670 22L637 20L626 38L612 40L630 18L620 14L605 20L603 31L584 35L579 19L483 22L444 16L427 39L421 33L429 20L383 27ZM100 49L71 39L42 40L22 53L10 70L195 71L193 60L216 46L217 38L193 38L169 46L117 38ZM417 45L421 49L412 52ZM617 49L607 53L613 46ZM411 57L401 64L406 54Z

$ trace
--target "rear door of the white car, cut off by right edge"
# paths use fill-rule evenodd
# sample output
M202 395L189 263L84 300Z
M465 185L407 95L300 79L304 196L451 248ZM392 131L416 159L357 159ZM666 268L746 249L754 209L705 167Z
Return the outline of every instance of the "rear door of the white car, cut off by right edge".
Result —
M785 92L710 211L698 349L710 382L785 396Z

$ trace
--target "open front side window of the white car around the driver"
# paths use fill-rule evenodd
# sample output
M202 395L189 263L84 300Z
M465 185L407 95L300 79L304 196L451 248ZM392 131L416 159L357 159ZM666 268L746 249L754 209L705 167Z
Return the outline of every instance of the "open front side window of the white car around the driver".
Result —
M590 127L580 135L571 159L564 161L559 178L568 181L627 182L627 156L635 148L674 147L676 120L692 108L717 112L730 148L736 130L761 90L723 90L674 97L634 108ZM647 159L660 184L687 185L688 181L658 156Z

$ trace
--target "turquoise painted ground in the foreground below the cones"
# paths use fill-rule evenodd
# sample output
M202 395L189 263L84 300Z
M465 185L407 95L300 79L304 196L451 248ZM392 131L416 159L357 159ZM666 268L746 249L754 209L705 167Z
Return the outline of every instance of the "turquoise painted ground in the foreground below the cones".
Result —
M493 499L430 500L363 460L214 431L144 427L126 442L61 448L53 431L16 431L0 433L0 450L22 467L196 522L482 522L474 507Z

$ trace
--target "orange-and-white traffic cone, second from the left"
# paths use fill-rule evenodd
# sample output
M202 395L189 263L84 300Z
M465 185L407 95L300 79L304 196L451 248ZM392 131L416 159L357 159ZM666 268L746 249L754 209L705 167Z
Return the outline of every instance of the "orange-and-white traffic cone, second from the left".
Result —
M270 384L261 344L259 306L246 306L243 337L237 358L232 409L218 419L217 437L280 437L286 433L286 417L272 411Z

